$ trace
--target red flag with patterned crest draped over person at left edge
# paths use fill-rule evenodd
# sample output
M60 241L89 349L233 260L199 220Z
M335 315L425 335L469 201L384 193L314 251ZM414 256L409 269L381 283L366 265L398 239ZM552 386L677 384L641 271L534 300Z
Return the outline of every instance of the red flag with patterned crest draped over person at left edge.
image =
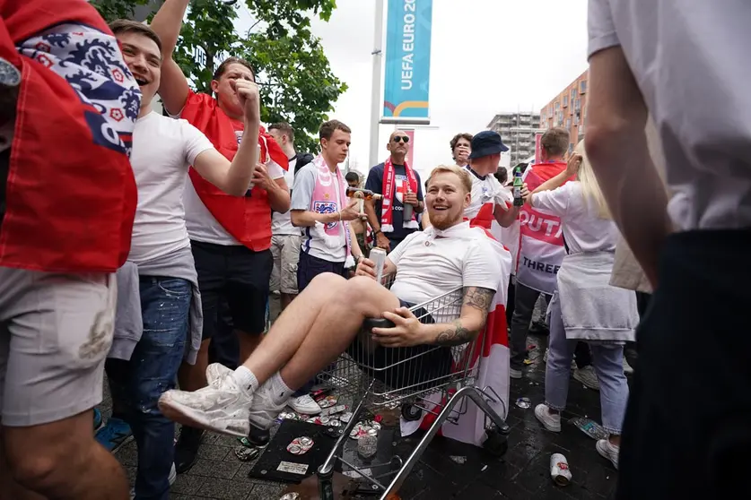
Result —
M0 57L22 72L0 265L113 272L135 218L138 86L83 0L0 0L0 20Z

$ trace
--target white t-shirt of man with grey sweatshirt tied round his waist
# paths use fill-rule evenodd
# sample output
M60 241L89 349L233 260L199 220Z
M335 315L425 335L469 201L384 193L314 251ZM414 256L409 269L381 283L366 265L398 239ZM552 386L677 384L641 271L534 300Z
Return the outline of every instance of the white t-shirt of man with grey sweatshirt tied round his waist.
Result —
M188 166L213 149L186 120L154 112L136 120L130 164L138 205L129 261L145 263L190 246L183 205Z

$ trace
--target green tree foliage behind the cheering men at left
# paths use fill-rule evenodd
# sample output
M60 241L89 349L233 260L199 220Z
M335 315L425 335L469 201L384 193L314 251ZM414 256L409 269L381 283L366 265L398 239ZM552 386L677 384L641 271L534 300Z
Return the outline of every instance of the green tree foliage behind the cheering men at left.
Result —
M106 20L131 17L150 0L92 0ZM244 4L243 4L244 3ZM347 86L331 72L310 19L328 21L336 0L192 0L174 58L196 91L210 91L214 69L224 58L247 59L256 70L268 124L293 125L298 151L318 151L319 125ZM239 12L252 18L249 32L238 33ZM197 61L197 62L196 62Z

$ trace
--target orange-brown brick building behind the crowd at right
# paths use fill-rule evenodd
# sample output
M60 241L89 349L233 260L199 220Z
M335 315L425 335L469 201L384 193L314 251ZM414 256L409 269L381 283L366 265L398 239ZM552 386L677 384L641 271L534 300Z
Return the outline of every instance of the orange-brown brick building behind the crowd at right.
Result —
M546 130L563 126L571 134L569 151L584 138L587 123L587 84L589 70L569 83L561 93L540 110L539 126Z

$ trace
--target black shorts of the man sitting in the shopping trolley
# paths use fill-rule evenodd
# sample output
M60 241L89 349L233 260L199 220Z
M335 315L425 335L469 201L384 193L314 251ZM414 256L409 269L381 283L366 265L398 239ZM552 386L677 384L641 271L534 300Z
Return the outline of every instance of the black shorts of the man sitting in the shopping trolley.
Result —
M412 307L399 299L402 307ZM423 323L435 323L422 308L415 310ZM430 387L430 381L450 375L453 358L448 347L421 345L408 348L377 347L369 353L359 338L350 344L347 353L358 363L370 366L363 368L365 373L386 384L391 389L406 387L423 390Z

